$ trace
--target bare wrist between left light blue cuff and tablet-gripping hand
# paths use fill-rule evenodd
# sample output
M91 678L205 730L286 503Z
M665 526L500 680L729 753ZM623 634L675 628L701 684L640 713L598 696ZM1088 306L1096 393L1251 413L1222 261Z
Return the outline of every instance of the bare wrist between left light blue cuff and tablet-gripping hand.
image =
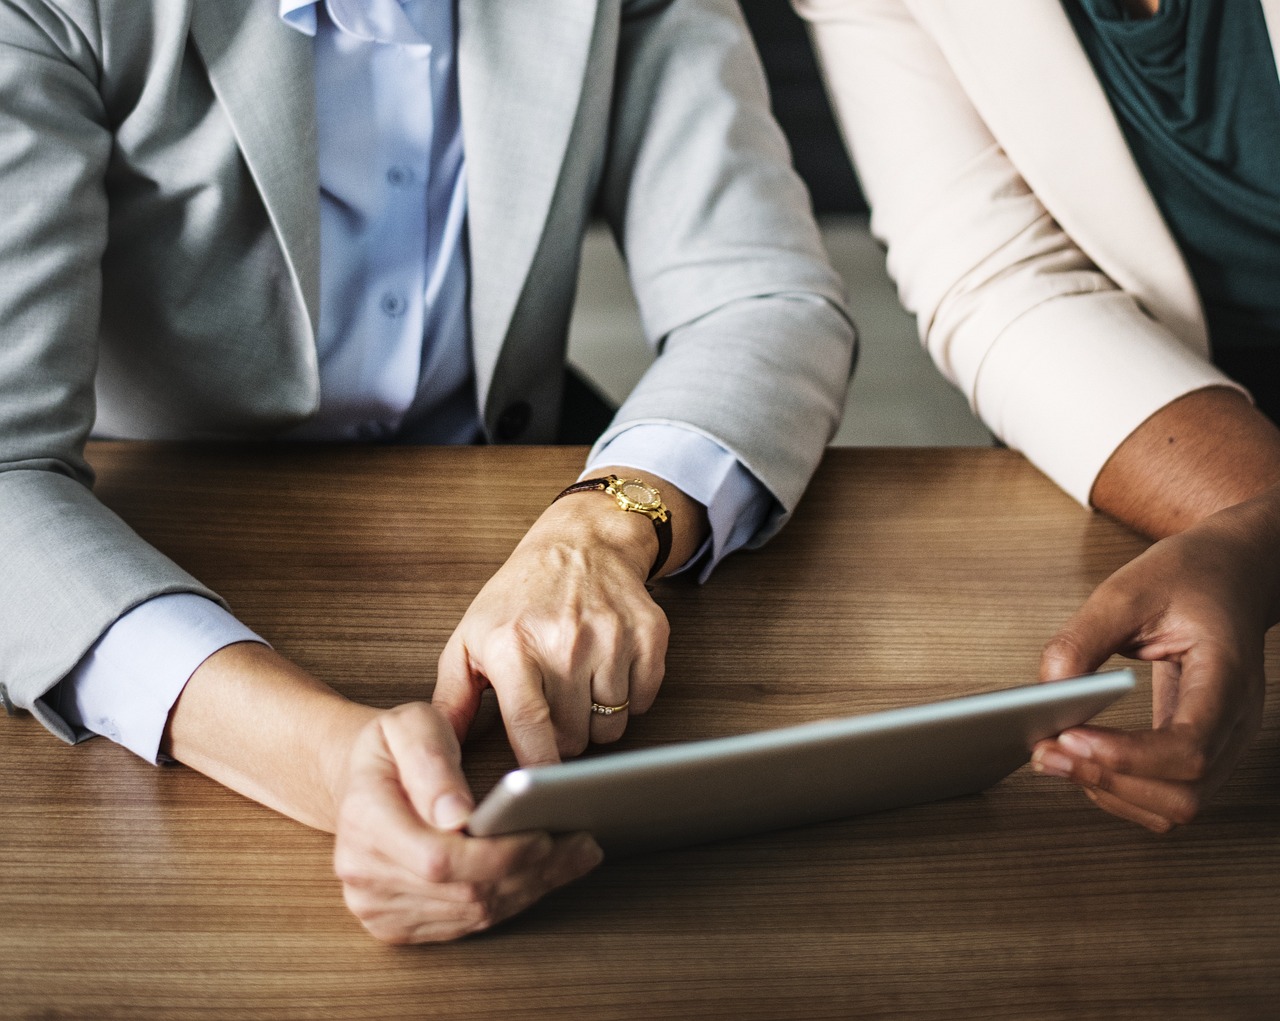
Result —
M375 709L266 646L230 645L192 674L161 750L246 797L333 832L342 777Z

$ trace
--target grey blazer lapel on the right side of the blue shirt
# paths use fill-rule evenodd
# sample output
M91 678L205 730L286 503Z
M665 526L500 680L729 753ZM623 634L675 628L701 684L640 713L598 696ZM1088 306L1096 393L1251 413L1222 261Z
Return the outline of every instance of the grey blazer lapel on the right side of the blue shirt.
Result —
M561 177L595 0L460 0L471 342L486 394Z

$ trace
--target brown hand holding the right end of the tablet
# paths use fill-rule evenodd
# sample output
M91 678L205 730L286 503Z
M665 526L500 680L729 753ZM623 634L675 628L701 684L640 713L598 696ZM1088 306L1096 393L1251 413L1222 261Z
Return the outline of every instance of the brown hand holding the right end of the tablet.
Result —
M1262 720L1263 642L1277 619L1275 491L1156 542L1097 587L1046 646L1046 681L1120 653L1152 660L1152 729L1076 727L1036 746L1033 766L1157 833L1189 823Z

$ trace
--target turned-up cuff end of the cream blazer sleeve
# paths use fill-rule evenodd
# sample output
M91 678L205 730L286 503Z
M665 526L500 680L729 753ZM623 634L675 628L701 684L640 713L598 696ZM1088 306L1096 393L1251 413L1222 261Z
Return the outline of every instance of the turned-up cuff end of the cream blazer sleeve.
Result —
M1202 354L1167 329L1134 315L1123 292L1089 297L1089 315L1064 336L1055 298L1023 313L982 365L974 407L1006 444L1020 450L1085 507L1107 459L1166 404L1206 386L1230 386Z

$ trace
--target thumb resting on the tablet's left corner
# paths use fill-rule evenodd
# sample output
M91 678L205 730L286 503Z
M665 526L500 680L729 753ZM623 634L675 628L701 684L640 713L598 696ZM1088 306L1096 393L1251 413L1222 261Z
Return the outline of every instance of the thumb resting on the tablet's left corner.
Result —
M466 825L475 800L449 722L435 708L412 702L388 714L383 733L401 787L419 816L436 829Z

